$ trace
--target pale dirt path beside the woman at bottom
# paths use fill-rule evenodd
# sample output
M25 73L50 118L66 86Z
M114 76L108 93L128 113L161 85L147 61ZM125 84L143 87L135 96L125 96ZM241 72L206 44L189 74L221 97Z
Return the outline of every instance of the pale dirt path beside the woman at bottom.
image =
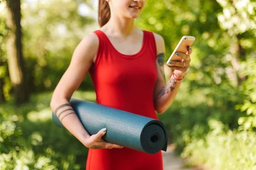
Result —
M162 153L164 170L205 170L199 167L186 167L185 161L175 156L173 145L169 145L167 151Z

